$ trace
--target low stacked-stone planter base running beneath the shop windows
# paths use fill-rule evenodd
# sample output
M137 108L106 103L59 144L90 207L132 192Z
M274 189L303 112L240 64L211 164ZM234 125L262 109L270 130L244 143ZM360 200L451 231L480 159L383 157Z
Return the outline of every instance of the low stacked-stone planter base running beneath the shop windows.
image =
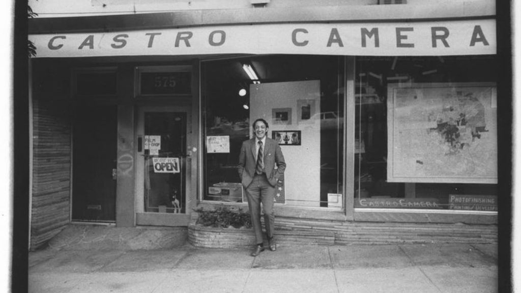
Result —
M206 248L246 248L255 245L252 229L188 226L188 240ZM275 239L281 245L351 245L396 243L497 243L495 225L335 222L281 218ZM267 241L265 239L264 243Z

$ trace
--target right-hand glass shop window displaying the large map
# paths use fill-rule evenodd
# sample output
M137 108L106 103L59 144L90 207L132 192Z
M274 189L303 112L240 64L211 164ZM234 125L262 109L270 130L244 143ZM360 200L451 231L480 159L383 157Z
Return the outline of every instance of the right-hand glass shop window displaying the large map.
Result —
M355 207L497 211L496 64L357 58Z

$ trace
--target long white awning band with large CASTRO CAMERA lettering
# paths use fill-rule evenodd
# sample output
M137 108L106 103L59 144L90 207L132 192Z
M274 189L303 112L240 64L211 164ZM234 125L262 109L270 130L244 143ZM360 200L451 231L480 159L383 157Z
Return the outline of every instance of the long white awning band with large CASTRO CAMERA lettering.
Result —
M276 23L29 35L36 57L197 54L496 54L495 20Z

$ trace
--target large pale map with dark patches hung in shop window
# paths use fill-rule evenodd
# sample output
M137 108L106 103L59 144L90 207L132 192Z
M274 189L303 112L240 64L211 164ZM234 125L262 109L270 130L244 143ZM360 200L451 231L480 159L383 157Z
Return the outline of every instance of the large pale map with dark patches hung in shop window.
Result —
M494 83L388 88L389 182L498 182Z

